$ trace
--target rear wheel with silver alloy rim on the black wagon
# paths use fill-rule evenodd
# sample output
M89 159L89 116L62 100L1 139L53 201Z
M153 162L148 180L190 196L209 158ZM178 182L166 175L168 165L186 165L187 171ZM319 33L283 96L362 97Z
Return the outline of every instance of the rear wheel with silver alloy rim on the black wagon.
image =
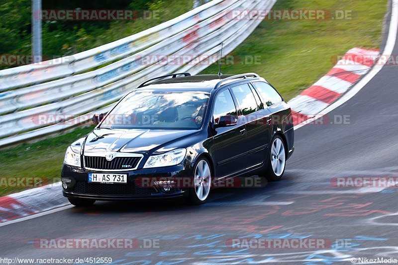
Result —
M268 155L265 170L262 177L268 181L278 181L282 179L286 168L286 146L280 135L275 135L271 141L271 146L268 148Z

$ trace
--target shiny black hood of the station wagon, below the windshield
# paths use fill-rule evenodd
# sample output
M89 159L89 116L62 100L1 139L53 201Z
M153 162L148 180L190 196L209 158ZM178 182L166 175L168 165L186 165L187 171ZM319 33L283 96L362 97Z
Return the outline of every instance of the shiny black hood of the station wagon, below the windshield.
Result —
M198 131L95 129L86 137L84 152L150 153Z

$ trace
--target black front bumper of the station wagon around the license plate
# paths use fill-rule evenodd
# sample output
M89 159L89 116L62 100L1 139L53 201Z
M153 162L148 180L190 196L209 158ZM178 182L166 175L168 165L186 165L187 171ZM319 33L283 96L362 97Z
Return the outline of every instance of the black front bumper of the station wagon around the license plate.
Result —
M127 174L127 184L89 183L89 173L107 173L63 165L61 178L67 189L63 195L67 198L96 200L126 200L126 199L175 199L188 194L189 188L171 186L170 191L162 189L164 185L153 185L153 180L173 180L175 178L192 178L193 165L176 165L163 168L137 169L132 171L112 172L112 174ZM65 180L68 180L67 183ZM149 182L150 184L149 184ZM143 184L144 182L145 184ZM141 183L141 184L140 184Z

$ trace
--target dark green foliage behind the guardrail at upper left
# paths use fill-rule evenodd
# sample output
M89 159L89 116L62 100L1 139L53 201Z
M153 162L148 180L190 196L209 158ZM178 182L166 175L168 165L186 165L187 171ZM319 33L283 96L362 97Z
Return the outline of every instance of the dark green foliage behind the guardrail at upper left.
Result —
M43 21L43 58L72 55L127 37L192 9L192 0L43 0L42 9L154 10L155 19ZM0 1L0 55L31 54L31 0ZM0 66L8 68L9 66Z

